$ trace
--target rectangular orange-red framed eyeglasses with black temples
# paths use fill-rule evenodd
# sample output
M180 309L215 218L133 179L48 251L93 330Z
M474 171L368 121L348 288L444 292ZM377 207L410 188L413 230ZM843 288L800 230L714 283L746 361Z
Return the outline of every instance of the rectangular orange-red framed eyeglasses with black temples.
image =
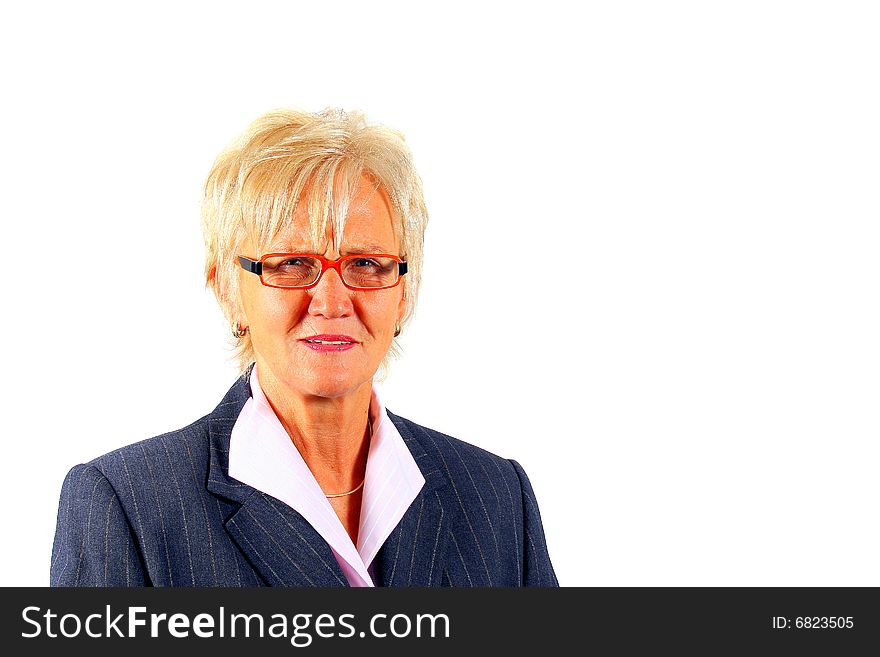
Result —
M308 253L267 253L259 260L238 256L242 269L263 285L284 289L315 287L328 269L335 269L349 290L384 290L400 283L406 262L387 253L363 253L328 260Z

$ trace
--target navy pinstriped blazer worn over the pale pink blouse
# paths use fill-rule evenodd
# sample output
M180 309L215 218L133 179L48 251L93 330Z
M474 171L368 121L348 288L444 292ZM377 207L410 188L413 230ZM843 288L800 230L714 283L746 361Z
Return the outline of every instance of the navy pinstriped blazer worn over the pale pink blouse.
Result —
M247 375L193 424L74 467L53 586L348 586L330 546L228 474ZM376 556L379 586L558 586L516 461L388 413L425 485Z

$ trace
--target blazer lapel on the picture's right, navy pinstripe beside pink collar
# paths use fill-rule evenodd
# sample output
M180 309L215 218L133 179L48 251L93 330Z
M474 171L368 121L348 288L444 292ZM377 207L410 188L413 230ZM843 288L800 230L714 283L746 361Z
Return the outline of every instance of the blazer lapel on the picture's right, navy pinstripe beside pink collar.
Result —
M376 585L440 586L449 514L454 510L444 495L449 479L419 440L418 429L391 412L388 416L418 464L425 485L376 556Z

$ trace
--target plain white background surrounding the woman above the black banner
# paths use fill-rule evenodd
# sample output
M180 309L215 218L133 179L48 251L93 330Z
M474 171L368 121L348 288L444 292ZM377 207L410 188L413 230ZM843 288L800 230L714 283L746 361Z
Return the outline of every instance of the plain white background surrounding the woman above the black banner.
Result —
M875 7L4 4L0 583L233 382L201 185L337 106L431 215L388 407L523 464L561 583L880 585Z

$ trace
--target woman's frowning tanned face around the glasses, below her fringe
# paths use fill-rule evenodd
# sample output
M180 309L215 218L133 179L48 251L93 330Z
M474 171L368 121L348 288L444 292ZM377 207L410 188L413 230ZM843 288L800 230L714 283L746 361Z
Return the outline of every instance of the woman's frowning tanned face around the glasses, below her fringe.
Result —
M312 253L309 219L302 204L291 231L265 253ZM352 253L400 254L391 207L384 191L361 179L340 241L333 250L329 236L320 255L335 260ZM250 250L248 250L250 249ZM254 259L253 244L241 255ZM384 290L349 290L339 274L328 269L308 290L277 289L240 269L239 322L250 329L261 383L320 397L340 397L371 385L373 375L391 345L395 324L404 313L404 285ZM307 342L313 336L345 336L351 347ZM270 381L266 381L270 383Z

